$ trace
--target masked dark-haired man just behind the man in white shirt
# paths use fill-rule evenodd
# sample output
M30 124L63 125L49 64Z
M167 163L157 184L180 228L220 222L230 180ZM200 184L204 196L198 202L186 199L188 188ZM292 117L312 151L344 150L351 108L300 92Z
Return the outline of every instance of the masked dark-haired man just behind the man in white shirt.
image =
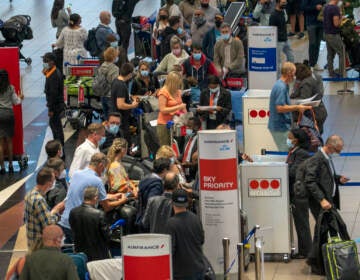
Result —
M104 154L108 152L109 147L116 138L121 138L123 133L120 129L121 115L119 112L111 112L107 121L103 122L105 127L105 142L100 146L100 151Z

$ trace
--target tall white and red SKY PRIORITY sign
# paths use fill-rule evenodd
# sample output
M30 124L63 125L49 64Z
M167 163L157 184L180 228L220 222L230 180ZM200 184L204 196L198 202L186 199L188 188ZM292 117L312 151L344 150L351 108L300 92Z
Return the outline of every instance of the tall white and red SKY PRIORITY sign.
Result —
M230 256L239 242L239 183L236 132L199 131L201 219L205 230L204 253L216 274L223 273L222 238L230 238ZM231 270L237 272L237 266Z

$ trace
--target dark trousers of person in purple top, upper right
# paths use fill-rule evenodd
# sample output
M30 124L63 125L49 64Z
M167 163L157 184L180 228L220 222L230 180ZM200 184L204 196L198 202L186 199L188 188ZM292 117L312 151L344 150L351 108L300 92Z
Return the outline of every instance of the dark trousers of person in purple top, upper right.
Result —
M345 66L345 55L343 42L341 40L340 34L325 34L326 49L327 49L327 63L329 73L334 72L334 58L337 54L339 56L339 70L340 75L344 74Z

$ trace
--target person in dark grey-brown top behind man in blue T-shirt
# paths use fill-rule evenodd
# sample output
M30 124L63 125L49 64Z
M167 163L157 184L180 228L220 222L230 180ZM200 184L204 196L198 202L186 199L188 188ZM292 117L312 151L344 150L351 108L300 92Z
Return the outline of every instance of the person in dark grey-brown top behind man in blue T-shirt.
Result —
M324 131L324 123L327 118L327 110L322 97L324 95L324 85L322 77L311 71L310 67L303 63L296 63L296 81L293 92L290 95L292 99L306 99L316 95L314 100L321 100L319 106L313 107L315 119L319 128L320 134ZM304 115L312 119L311 111L305 111ZM299 112L293 112L293 120L297 121Z

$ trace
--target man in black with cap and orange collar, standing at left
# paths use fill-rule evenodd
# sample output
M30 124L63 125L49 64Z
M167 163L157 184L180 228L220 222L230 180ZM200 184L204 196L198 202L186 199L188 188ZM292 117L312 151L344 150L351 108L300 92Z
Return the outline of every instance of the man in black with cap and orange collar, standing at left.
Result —
M64 147L64 131L61 116L65 109L63 75L55 65L56 57L53 53L43 56L43 74L46 77L45 95L48 108L49 125L55 140L59 140Z

